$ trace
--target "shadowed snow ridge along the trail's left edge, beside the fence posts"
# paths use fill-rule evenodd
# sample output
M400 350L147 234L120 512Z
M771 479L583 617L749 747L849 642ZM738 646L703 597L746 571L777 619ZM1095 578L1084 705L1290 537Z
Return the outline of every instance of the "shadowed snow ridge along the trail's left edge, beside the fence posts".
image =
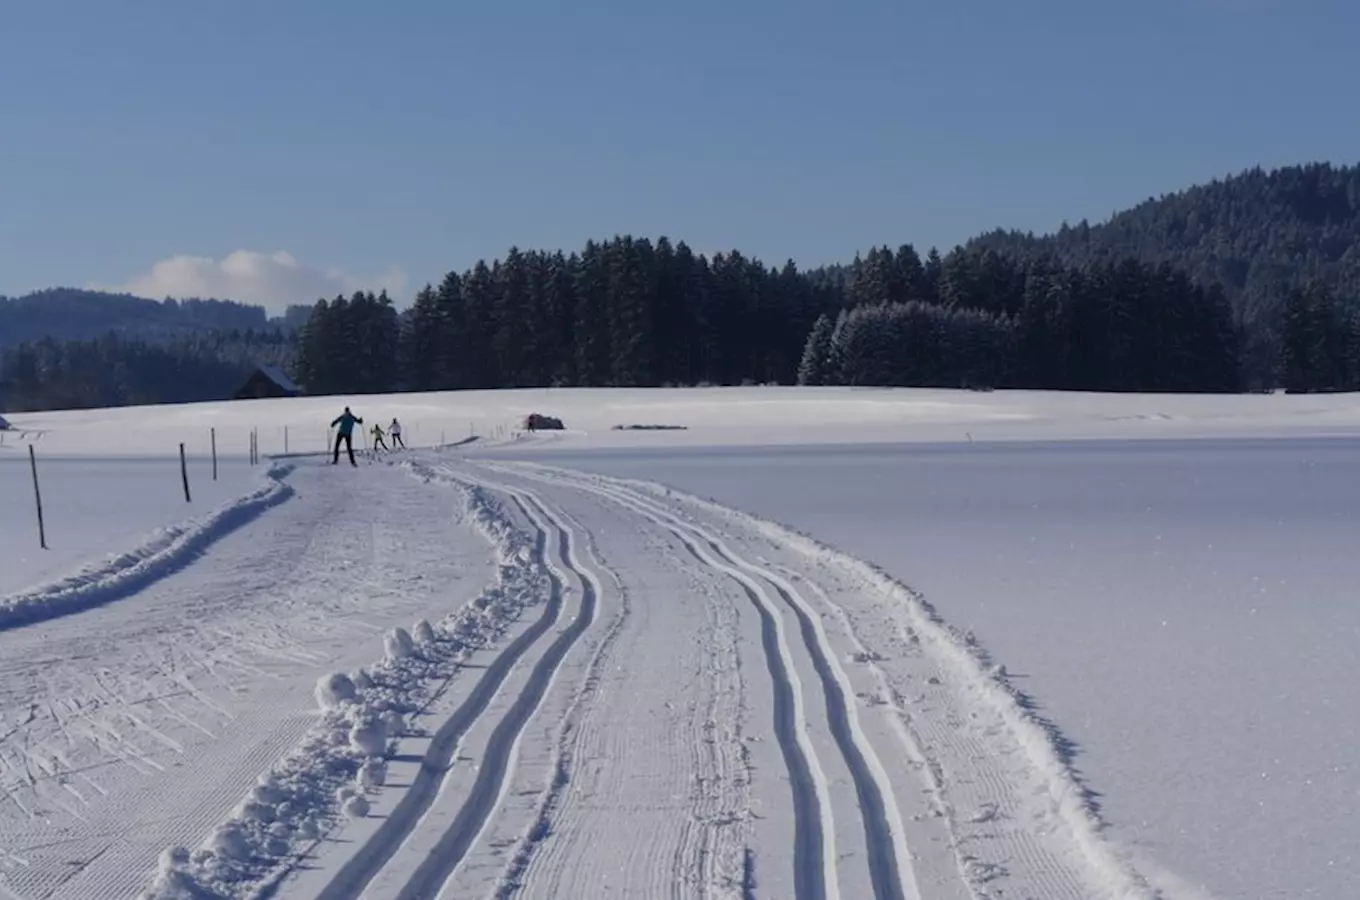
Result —
M284 483L292 466L273 465L265 484L201 518L165 529L136 549L86 566L61 581L0 597L0 629L31 625L57 616L122 600L193 561L215 541L292 496Z

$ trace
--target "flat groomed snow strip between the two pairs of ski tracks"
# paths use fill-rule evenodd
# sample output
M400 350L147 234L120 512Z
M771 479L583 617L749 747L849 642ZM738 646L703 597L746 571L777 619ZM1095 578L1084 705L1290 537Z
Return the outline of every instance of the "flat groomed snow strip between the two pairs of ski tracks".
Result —
M480 472L461 477L492 484ZM660 529L620 527L613 504L496 483L559 515L570 506L590 568L602 567L616 585L602 606L615 612L586 638L593 653L564 666L533 726L537 740L524 744L506 806L446 896L762 896L732 590ZM770 786L782 801L778 782ZM792 848L790 812L779 802L770 825ZM774 869L771 890L792 896L774 886Z

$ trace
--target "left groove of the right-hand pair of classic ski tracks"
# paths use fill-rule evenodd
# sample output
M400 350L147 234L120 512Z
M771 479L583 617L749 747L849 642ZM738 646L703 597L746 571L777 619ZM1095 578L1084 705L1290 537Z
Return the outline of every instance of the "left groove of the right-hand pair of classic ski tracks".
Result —
M496 469L499 466L488 465L487 468ZM509 472L510 469L505 470ZM779 735L779 746L789 768L789 778L794 795L794 896L798 900L839 900L840 886L836 877L835 828L831 813L830 787L821 769L821 763L817 757L816 749L808 735L806 710L802 700L802 682L794 666L793 653L789 648L783 616L779 612L779 606L770 598L768 593L758 581L752 579L740 568L722 561L721 553L715 549L706 549L698 542L706 541L706 537L699 537L696 540L687 536L683 526L664 521L650 508L639 503L631 503L627 499L622 499L607 491L596 489L593 485L585 485L566 479L559 480L541 477L536 473L528 473L518 469L513 472L526 477L533 477L547 484L558 484L562 487L589 491L626 508L632 508L635 513L650 519L657 526L670 532L699 564L728 575L741 586L747 598L760 616L762 643L766 650L770 677L775 684L775 731ZM785 697L781 695L787 696ZM811 798L808 797L809 791L800 790L800 782L811 784ZM805 861L811 861L811 863ZM813 873L817 873L820 877L815 877ZM902 897L903 895L900 893L900 886L899 893L887 896Z

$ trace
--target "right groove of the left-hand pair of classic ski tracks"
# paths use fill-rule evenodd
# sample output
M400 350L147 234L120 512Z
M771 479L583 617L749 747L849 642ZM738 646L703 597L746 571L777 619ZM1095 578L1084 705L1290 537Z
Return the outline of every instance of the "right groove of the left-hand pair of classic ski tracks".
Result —
M520 503L518 499L517 503ZM540 522L533 513L522 503L520 506L524 514L530 521L534 521L534 526L540 527ZM457 874L458 866L472 846L479 842L491 823L496 808L500 805L505 790L510 783L525 726L552 687L556 672L566 658L567 651L571 650L581 635L594 621L597 605L596 582L574 568L570 561L574 559L570 532L555 515L548 514L547 519L558 533L558 548L563 555L563 566L581 581L581 610L568 625L559 631L558 638L544 650L543 657L533 666L528 682L496 723L495 730L487 741L486 755L481 765L477 768L476 780L472 784L469 795L462 801L457 814L447 828L445 828L439 840L393 895L393 900L434 900L442 893L445 884ZM540 537L545 537L543 530L540 530ZM556 621L558 616L560 616L562 598L567 586L564 572L549 560L545 551L544 541L540 541L540 561L548 570L552 583L552 604L556 610L552 621Z

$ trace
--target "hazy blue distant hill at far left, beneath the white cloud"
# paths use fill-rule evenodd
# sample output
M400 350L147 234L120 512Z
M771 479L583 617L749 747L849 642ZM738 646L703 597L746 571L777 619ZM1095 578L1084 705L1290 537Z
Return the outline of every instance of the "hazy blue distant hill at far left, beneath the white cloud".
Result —
M50 288L18 298L0 296L0 349L50 337L90 340L113 332L120 337L163 341L205 332L295 330L303 307L271 319L264 307L231 300L150 300L129 294Z

